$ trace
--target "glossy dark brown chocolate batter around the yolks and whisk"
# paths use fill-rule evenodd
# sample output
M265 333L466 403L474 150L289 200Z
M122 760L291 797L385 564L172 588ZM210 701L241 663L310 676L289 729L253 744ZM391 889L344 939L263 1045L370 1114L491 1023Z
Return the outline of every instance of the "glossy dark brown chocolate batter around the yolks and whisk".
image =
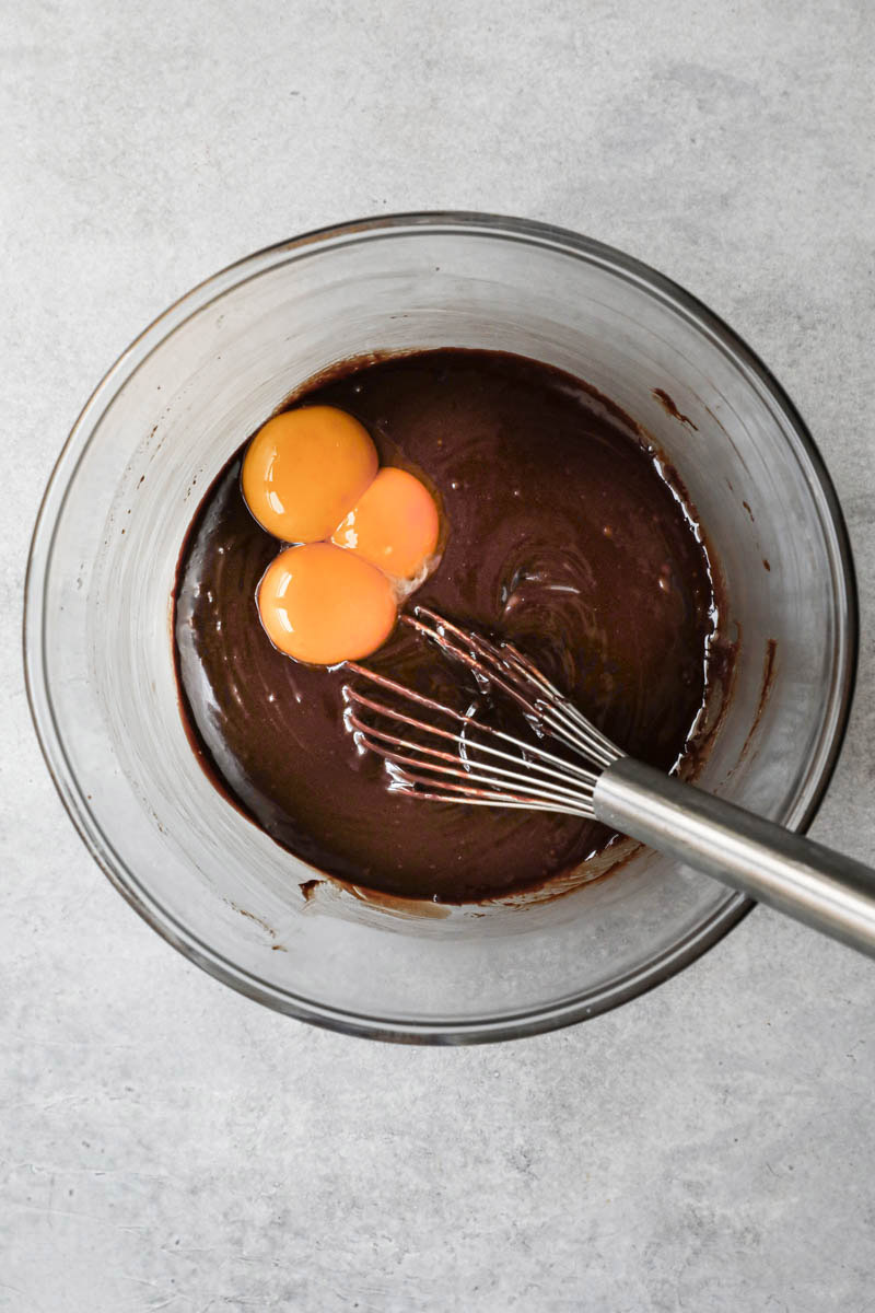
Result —
M353 361L294 400L356 415L383 463L438 494L443 557L408 609L509 638L628 752L673 765L706 695L712 582L689 511L610 403L478 351ZM193 742L243 811L332 876L446 902L543 884L603 848L610 831L571 817L387 790L344 730L342 668L298 664L261 628L256 586L279 545L247 509L240 461L185 542L176 654ZM408 626L370 664L491 722L513 714Z

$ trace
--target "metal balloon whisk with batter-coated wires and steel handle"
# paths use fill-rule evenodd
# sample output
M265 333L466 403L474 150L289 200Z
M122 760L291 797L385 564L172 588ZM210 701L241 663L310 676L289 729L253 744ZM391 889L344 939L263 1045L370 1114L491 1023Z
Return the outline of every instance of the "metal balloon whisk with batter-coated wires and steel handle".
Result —
M510 697L534 738L350 662L369 688L345 685L346 725L383 758L392 790L601 821L875 957L875 871L627 756L513 645L426 607L401 618L483 688Z

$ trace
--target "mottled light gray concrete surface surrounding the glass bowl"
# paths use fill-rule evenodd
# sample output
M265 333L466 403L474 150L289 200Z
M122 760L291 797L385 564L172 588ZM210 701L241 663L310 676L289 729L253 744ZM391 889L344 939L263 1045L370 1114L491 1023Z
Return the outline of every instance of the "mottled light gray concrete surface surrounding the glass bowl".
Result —
M815 834L875 861L867 0L49 0L0 16L0 1309L875 1309L875 966L762 910L597 1022L420 1050L274 1016L87 856L20 670L93 383L223 264L359 214L543 218L724 315L807 416L863 603Z

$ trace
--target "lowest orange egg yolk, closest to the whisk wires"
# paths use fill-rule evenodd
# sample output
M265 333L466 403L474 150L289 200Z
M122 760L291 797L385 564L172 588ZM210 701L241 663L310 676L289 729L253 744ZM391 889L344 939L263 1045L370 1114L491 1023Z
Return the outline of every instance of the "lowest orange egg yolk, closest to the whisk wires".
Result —
M370 655L388 638L397 611L386 575L331 542L281 551L262 575L257 601L273 645L314 666Z

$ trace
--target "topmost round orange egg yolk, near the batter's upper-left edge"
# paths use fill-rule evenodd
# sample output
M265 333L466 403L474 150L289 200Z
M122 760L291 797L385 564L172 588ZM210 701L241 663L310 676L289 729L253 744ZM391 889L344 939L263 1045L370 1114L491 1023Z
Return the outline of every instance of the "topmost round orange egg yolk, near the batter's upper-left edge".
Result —
M376 448L363 424L333 406L274 415L243 460L243 495L268 533L317 542L373 482Z

